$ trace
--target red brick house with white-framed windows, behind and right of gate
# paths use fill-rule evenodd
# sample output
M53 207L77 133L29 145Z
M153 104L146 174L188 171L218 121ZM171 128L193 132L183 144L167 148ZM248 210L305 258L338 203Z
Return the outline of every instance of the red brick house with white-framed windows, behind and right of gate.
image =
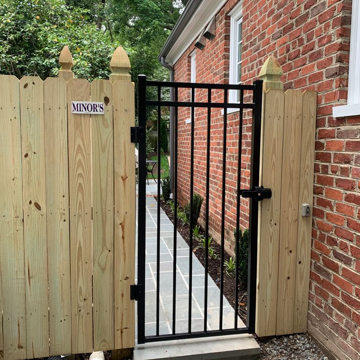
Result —
M213 24L211 23L214 20ZM208 27L214 37L205 39ZM195 43L200 48L195 47ZM284 89L316 90L317 121L308 330L338 359L360 359L360 1L190 0L159 60L175 81L251 84L274 55ZM189 98L187 90L179 99ZM201 101L203 94L196 94ZM236 102L235 93L232 100ZM213 101L217 101L214 94ZM179 199L189 198L190 111L179 112ZM195 113L201 135L205 109ZM222 113L213 113L210 229L218 238ZM228 116L226 241L233 252L237 114ZM251 122L244 124L242 185L248 184ZM205 144L195 146L195 192L203 194ZM247 226L246 200L242 200Z

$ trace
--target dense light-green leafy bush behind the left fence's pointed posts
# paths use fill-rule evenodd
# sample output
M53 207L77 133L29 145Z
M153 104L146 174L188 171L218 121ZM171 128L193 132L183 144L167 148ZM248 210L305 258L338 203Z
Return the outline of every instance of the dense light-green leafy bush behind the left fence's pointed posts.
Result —
M70 9L64 0L0 0L1 73L54 76L64 45L76 76L108 77L116 44L90 21L87 9Z

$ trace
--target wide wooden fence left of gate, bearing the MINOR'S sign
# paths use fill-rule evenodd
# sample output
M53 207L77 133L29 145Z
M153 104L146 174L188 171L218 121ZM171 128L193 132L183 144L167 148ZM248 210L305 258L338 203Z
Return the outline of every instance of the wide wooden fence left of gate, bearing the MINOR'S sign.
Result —
M0 346L5 360L134 346L134 85L0 76ZM116 81L119 80L119 81ZM103 102L75 114L72 101Z

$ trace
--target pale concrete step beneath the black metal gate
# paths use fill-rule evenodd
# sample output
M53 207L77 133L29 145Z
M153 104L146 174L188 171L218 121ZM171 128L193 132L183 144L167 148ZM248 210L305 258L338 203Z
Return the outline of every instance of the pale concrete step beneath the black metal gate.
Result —
M260 346L251 335L227 335L136 345L134 360L253 360Z

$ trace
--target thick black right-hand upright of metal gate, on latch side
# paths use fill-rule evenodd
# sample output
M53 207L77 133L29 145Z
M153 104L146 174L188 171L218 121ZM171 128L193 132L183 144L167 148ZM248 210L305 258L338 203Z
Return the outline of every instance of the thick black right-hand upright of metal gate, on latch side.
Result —
M260 175L260 144L261 144L261 111L263 98L263 81L254 83L252 101L255 104L252 116L251 133L251 168L250 189L259 186ZM258 234L258 202L253 198L249 206L249 248L248 248L248 317L247 326L249 334L255 332L256 307L256 262L257 262L257 234Z

